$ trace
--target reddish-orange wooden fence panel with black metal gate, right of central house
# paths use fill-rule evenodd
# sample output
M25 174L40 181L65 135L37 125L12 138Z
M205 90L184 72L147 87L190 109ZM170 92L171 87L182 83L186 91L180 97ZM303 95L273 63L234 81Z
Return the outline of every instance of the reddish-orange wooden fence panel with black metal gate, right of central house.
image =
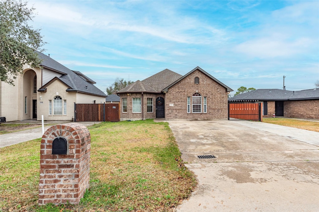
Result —
M262 103L228 103L228 120L232 121L263 121Z

